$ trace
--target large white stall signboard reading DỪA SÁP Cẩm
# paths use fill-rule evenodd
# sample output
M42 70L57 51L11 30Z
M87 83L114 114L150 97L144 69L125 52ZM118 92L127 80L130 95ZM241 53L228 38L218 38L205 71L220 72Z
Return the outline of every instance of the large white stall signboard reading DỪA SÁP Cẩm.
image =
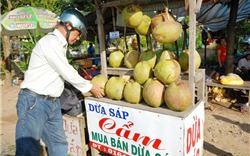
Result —
M201 151L204 103L185 119L110 101L85 98L90 147L117 156L194 156L197 153L194 148ZM192 128L194 125L196 129ZM194 134L195 141L191 138Z

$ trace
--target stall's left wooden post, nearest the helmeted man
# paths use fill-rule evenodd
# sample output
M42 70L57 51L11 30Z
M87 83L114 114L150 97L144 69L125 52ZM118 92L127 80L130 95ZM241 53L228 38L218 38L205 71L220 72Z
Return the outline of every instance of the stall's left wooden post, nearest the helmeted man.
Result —
M103 23L104 19L101 14L101 8L100 8L100 0L95 0L95 6L96 6L96 16L97 16L97 25L98 25L98 39L99 39L99 49L100 49L100 56L101 56L101 74L108 76L107 74L107 57L106 57L106 48L105 48L105 34L104 34L104 28Z

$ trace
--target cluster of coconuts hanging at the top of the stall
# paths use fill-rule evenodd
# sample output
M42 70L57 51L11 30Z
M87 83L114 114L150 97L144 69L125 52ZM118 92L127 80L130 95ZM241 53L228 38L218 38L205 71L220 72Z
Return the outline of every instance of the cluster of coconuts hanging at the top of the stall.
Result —
M140 35L152 33L156 41L167 44L176 41L182 33L182 25L165 9L152 19L143 15L142 9L136 5L126 6L122 10L122 18L127 27L134 28Z

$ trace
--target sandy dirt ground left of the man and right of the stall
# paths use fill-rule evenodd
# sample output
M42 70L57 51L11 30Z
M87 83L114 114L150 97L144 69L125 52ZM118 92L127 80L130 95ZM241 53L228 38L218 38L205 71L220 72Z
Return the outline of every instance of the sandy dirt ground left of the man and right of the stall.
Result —
M0 86L0 156L15 152L16 100L19 86ZM203 156L250 156L249 112L229 109L230 103L210 103L205 109Z

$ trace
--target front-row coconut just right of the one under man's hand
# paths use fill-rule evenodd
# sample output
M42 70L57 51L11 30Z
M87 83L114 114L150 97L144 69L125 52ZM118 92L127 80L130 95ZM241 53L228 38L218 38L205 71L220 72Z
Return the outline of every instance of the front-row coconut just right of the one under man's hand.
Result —
M105 94L110 99L121 100L125 84L126 82L123 78L112 76L105 85Z

